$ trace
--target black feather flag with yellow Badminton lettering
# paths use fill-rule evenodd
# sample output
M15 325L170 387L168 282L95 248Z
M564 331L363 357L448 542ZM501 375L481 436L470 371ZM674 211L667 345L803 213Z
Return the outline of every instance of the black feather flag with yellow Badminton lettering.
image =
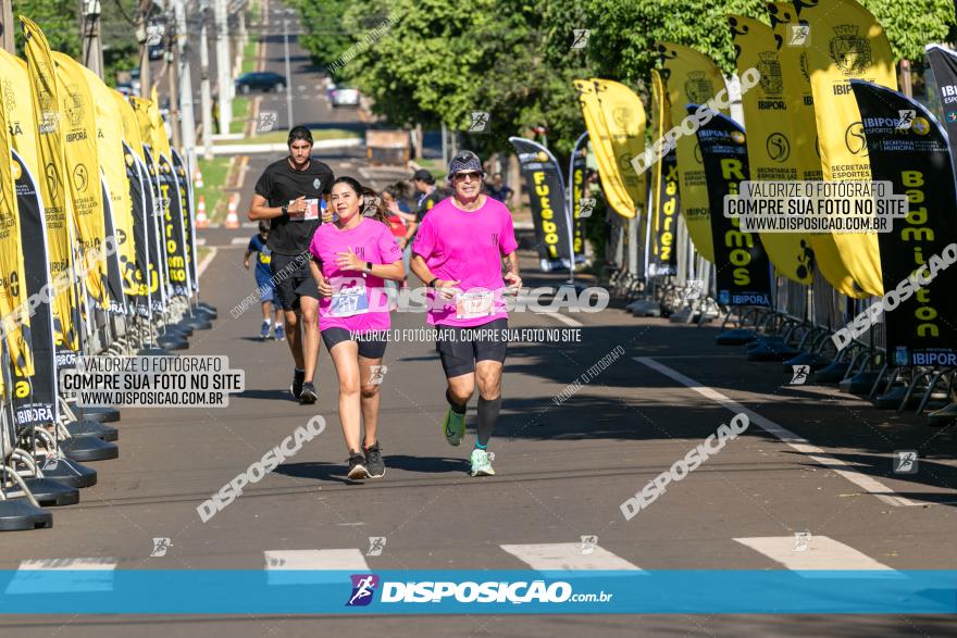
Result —
M852 79L871 176L907 195L907 217L878 234L884 284L884 326L891 365L957 365L957 187L947 134L907 96ZM909 277L918 273L917 285ZM928 273L932 283L918 289ZM893 308L892 308L893 307Z

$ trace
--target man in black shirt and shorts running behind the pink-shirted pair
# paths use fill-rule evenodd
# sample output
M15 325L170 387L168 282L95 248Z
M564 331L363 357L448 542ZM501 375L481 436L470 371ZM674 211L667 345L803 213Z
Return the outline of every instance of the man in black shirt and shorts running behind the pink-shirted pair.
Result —
M286 315L286 339L296 371L289 391L301 403L314 403L313 385L319 359L319 289L309 271L309 243L323 221L320 200L328 198L335 179L332 170L311 158L312 134L304 126L289 132L289 155L266 166L249 209L253 222L269 220L266 246L275 283L276 303Z

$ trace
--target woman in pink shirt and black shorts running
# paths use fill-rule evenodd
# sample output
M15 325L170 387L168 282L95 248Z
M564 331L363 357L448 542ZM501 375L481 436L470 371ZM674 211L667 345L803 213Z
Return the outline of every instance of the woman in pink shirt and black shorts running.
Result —
M385 474L378 427L378 385L389 329L385 279L406 276L382 200L351 177L333 183L338 220L322 224L309 247L322 299L319 329L339 377L339 421L349 449L349 478ZM360 447L361 423L365 440Z

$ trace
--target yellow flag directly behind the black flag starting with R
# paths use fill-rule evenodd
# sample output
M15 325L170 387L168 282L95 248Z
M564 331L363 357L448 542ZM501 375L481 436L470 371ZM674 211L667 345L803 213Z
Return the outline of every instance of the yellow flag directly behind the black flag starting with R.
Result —
M724 77L714 62L705 55L681 45L662 42L658 45L661 58L661 79L668 89L671 108L684 118L686 104L704 104L718 96L726 98ZM716 109L728 115L728 108ZM705 178L705 164L695 135L682 135L675 149L678 157L678 190L681 196L681 214L684 215L688 235L698 253L714 261L714 246L711 239L711 210L708 204L708 182Z

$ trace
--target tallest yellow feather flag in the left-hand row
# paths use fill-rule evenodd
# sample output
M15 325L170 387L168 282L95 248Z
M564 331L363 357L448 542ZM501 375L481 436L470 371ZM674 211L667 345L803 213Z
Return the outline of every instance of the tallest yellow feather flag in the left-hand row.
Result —
M37 173L37 182L44 200L50 276L55 290L51 299L53 328L58 346L78 350L77 326L74 321L76 298L70 276L73 212L65 188L57 77L44 32L27 17L20 16L20 21L23 24L24 51L29 70L34 121L37 125L37 157L42 166Z

